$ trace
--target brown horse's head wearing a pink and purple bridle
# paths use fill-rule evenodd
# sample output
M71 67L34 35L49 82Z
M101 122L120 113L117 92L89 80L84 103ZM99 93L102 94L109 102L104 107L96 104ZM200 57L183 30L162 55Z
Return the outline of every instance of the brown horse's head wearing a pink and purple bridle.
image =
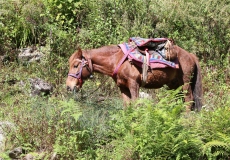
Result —
M90 61L90 62L89 62ZM82 50L72 54L69 58L69 73L66 79L66 86L68 91L78 91L83 84L83 80L89 78L92 75L92 64L90 59L86 59L82 55Z

